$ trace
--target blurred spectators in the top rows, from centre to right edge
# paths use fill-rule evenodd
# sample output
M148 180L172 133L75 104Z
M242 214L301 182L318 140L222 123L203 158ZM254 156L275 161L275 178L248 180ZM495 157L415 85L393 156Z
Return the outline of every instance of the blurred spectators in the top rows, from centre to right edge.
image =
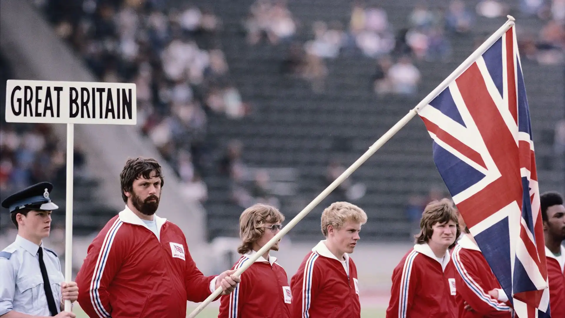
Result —
M538 35L520 35L523 55L541 64L563 63L565 1L521 2L523 14L536 15L545 24ZM471 36L477 17L494 19L511 13L505 2L496 0L481 1L474 9L463 0L451 0L446 7L436 8L419 2L406 21L395 21L393 25L384 8L356 0L348 25L315 21L311 26L313 38L302 43L295 40L298 22L284 2L257 0L244 27L250 45L262 40L273 45L288 44L282 71L310 81L315 92L324 90L328 59L363 55L376 60L372 78L376 94L414 95L421 82L418 62L449 61L451 36Z

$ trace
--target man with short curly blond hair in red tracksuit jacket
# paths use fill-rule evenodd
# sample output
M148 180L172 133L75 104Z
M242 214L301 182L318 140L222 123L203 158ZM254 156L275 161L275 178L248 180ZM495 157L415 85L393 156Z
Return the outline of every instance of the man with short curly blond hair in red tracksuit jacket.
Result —
M361 316L353 253L367 214L357 205L332 203L321 215L325 240L312 248L290 281L293 318Z

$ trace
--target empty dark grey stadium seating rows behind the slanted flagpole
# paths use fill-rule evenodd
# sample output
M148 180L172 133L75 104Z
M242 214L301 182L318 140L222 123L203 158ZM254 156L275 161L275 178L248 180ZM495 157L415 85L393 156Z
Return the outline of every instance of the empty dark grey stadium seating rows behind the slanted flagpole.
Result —
M466 2L471 8L477 3ZM232 78L254 108L250 117L239 121L222 116L210 117L208 142L221 149L229 140L239 139L244 143L243 161L249 166L298 169L298 194L281 201L282 210L288 217L293 217L327 186L324 175L331 158L340 158L345 166L353 163L472 52L475 37L489 35L506 20L478 18L470 35L451 36L451 62L418 63L424 81L414 98L375 97L368 89L375 62L363 57L339 57L327 61L329 76L325 92L315 94L307 83L279 74L288 45L250 46L245 43L241 21L251 3L253 1L250 0L214 2L214 11L224 22L221 43ZM413 1L366 3L378 3L385 8L389 21L397 29L402 27L398 24L406 21L414 7ZM445 5L445 2L432 3ZM351 12L350 2L344 1L291 0L288 7L306 29L297 35L297 40L301 41L311 38L308 30L315 20L347 23ZM537 32L539 29L536 19L513 14L519 19L519 30L533 29ZM556 173L559 167L550 164L551 139L544 136L553 130L553 126L547 126L547 123L553 123L553 118L563 117L563 72L552 71L553 66L538 66L527 61L523 64L532 109L538 169L540 179L544 181L541 188L542 191L560 188L563 174ZM345 150L336 148L343 143L345 145L341 146L345 148L341 148ZM432 186L443 187L431 160L431 141L419 118L412 119L351 178L367 185L367 194L355 201L369 214L370 222L363 229L363 238L367 239L407 239L409 225L404 210L408 198L412 194L425 195ZM210 237L237 235L237 218L242 208L229 199L227 179L212 174L206 182L209 199L205 207ZM290 237L320 237L321 209L337 199L330 195L295 227Z

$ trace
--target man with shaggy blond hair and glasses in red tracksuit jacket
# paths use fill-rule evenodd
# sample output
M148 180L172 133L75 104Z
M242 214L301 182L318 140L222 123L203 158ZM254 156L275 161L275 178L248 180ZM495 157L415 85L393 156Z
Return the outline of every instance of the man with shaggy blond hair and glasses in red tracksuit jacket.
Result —
M282 213L266 204L255 204L241 213L241 245L237 251L242 256L232 269L249 262L253 254L279 233L283 221ZM279 242L271 250L278 251ZM241 282L231 295L221 297L219 318L290 318L292 294L288 277L269 252L241 274Z

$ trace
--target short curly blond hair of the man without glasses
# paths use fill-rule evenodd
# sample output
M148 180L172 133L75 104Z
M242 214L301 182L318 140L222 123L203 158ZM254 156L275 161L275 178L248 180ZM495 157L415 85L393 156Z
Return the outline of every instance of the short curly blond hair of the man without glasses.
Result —
M321 233L328 236L328 225L339 230L347 221L367 223L367 214L363 209L349 202L334 202L321 213Z

